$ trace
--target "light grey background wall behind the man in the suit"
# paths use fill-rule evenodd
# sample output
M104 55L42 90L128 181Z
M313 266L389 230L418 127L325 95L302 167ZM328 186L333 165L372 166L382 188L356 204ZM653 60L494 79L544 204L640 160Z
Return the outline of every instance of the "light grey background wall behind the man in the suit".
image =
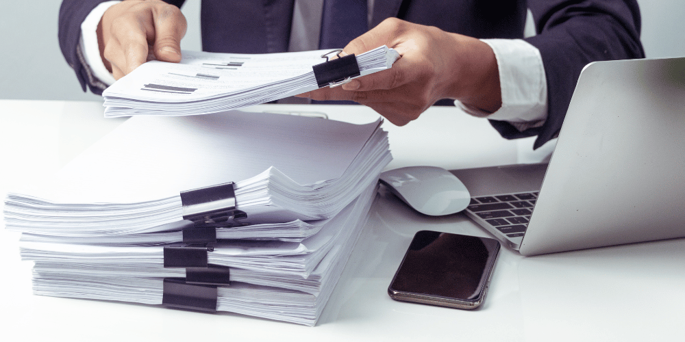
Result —
M638 0L647 57L685 56L685 2ZM57 40L61 0L0 0L0 98L99 100L81 91ZM188 32L182 49L199 50L200 0L187 0L182 11Z

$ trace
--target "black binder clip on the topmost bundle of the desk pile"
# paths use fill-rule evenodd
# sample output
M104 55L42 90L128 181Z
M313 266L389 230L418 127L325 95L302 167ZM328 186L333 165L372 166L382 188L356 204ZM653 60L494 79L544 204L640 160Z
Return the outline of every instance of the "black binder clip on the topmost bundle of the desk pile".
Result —
M240 225L236 220L247 218L245 211L236 209L233 182L181 192L184 220L197 227L230 227Z

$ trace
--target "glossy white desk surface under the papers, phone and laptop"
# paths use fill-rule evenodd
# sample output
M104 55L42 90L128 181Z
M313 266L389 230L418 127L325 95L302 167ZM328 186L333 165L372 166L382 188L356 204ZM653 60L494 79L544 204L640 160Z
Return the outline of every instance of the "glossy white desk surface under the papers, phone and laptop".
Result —
M262 105L251 110L326 111L369 122L362 106ZM58 170L123 122L100 103L0 101L0 195L16 182ZM506 141L486 120L434 108L406 127L384 124L395 159L388 168L469 168L532 162L532 139ZM503 249L488 298L477 311L391 300L386 289L416 231L487 236L461 214L429 218L380 194L319 325L310 328L229 313L32 295L31 264L18 234L2 231L5 341L643 341L683 339L685 239L524 258ZM10 337L10 339L5 339Z

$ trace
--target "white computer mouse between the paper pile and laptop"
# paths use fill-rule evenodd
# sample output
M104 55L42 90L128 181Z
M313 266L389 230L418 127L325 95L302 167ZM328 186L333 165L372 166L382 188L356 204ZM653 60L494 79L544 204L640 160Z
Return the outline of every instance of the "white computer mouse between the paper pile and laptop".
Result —
M436 166L409 166L383 172L380 182L419 213L449 215L466 209L469 190L451 172Z

